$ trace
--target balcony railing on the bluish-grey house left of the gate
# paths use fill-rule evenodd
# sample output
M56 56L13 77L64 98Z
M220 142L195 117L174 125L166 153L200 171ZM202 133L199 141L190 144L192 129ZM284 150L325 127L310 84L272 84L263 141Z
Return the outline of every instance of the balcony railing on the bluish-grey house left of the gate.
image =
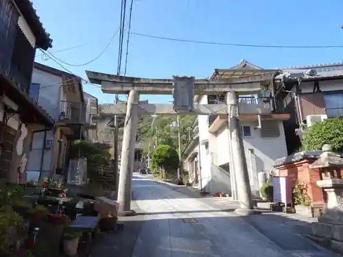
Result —
M84 103L60 101L58 121L69 124L86 123L86 107Z

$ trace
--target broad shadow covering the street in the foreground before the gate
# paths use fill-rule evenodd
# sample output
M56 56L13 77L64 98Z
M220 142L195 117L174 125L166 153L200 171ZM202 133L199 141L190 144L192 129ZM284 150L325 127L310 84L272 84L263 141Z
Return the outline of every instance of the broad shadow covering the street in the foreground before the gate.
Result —
M248 257L265 256L267 252L273 257L285 257L285 252L289 256L304 252L313 254L313 257L336 256L305 238L309 224L303 221L270 214L249 217L192 214L178 212L178 217L169 219L148 214L145 219L126 221L123 230L100 234L92 256L132 257L134 253L139 257L178 257L188 256L189 252L189 256L233 254ZM198 214L197 217L193 217L194 214Z

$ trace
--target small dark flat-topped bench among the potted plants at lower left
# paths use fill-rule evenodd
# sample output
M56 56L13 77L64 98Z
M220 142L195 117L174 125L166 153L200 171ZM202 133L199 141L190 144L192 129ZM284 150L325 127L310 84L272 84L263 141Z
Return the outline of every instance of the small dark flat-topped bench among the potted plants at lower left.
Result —
M79 249L82 254L91 253L93 239L99 232L99 220L99 217L79 216L69 225L69 229L80 230L82 232L79 243Z

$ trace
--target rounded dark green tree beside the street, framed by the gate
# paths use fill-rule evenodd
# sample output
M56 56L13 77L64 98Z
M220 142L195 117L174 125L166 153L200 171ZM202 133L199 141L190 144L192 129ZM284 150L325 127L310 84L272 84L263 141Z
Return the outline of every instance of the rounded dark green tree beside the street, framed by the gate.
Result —
M165 169L166 172L176 172L179 160L178 152L170 145L158 145L152 153L152 170Z

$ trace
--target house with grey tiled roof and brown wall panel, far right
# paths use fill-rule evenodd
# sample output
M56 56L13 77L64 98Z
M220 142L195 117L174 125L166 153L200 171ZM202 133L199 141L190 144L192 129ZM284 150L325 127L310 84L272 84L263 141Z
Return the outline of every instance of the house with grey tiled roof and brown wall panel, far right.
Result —
M294 154L305 127L328 117L343 117L343 63L281 69L274 92L290 114L284 125L288 154Z

